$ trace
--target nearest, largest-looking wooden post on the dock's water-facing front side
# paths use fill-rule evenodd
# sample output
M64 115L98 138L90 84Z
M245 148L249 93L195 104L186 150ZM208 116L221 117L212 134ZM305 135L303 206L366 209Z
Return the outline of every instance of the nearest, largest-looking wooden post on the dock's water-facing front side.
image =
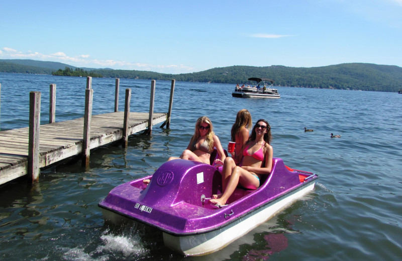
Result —
M29 93L28 176L32 183L39 180L39 132L41 124L41 93Z

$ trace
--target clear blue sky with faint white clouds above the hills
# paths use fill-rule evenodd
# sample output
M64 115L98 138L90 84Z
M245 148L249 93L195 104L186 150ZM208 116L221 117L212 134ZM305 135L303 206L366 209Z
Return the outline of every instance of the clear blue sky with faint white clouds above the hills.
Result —
M10 1L0 59L191 73L233 65L402 67L402 0Z

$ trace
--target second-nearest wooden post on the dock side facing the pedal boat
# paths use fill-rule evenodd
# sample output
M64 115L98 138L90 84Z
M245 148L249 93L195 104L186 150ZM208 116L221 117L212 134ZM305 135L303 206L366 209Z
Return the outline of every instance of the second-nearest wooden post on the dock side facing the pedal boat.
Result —
M86 168L89 167L89 154L90 154L90 144L91 144L91 118L92 118L92 98L93 89L92 77L86 78L86 89L85 89L85 115L84 115L84 131L82 139L82 166Z

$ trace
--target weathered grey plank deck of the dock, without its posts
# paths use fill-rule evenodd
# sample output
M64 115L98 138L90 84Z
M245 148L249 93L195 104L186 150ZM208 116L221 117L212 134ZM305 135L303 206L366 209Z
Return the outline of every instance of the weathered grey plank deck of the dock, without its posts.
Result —
M154 113L152 122L165 120L166 113ZM82 153L83 122L81 117L40 126L40 168ZM123 111L92 115L90 149L122 140L123 122ZM128 136L143 132L149 125L148 113L130 112L129 123ZM0 132L0 184L27 175L28 136L29 127ZM3 146L3 141L7 145ZM13 142L18 148L11 147Z

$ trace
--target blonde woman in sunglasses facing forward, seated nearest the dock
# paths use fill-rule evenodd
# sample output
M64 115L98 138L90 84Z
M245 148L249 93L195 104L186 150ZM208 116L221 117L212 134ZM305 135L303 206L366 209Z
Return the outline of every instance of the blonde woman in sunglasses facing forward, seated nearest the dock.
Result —
M187 149L183 151L179 158L170 157L168 161L183 159L210 164L210 157L214 148L217 149L221 157L221 159L216 160L215 163L223 165L226 156L221 142L218 136L214 134L214 127L211 120L207 116L202 116L199 117L195 123L194 135L191 137Z

